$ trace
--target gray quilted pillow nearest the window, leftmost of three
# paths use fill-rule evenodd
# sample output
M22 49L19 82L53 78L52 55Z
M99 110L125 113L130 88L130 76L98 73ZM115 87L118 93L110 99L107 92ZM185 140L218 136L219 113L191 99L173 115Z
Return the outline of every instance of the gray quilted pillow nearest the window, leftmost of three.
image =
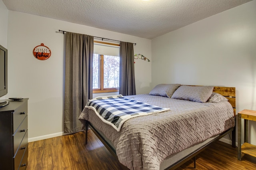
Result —
M180 84L159 84L150 91L149 95L172 97L178 87L180 87Z

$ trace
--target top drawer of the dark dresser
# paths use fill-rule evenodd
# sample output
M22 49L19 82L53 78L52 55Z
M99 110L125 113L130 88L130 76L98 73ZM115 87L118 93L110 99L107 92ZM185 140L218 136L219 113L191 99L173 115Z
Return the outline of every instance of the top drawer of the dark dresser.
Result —
M16 101L16 102L24 102L24 101ZM28 105L24 102L24 104L20 105L17 109L14 110L13 114L13 129L12 134L16 131L16 129L19 127L20 123L23 121L23 119L28 114Z

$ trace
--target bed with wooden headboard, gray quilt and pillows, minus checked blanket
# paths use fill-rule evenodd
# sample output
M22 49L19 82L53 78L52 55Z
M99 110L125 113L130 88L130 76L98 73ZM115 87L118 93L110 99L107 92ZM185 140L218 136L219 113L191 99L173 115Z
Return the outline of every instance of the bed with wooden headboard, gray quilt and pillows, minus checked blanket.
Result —
M201 91L204 93L198 97ZM214 99L216 94L218 100ZM86 143L90 127L106 148L129 169L178 168L230 132L235 147L234 87L212 86L211 90L210 86L160 84L149 94L125 98L170 110L130 118L119 131L103 123L90 107L84 108L79 120L85 129Z

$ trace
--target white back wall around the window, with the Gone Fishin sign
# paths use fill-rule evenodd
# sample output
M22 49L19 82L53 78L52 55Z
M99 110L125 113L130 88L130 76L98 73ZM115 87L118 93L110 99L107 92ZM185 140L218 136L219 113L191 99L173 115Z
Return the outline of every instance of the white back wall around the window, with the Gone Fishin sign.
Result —
M64 36L58 30L137 43L134 53L151 59L151 40L101 30L79 24L9 11L8 18L8 97L28 100L29 141L62 135L64 113ZM51 56L40 61L33 49L40 43ZM151 83L151 62L135 64L136 90L146 93Z

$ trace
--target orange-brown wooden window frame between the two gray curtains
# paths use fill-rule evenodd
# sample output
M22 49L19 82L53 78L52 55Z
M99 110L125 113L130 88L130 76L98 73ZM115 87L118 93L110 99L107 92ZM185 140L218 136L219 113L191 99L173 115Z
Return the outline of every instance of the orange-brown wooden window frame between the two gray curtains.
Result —
M115 44L115 45L117 45L117 44ZM99 54L99 60L100 60L99 61L99 84L100 84L100 88L92 89L92 93L119 92L119 88L104 88L104 55Z

